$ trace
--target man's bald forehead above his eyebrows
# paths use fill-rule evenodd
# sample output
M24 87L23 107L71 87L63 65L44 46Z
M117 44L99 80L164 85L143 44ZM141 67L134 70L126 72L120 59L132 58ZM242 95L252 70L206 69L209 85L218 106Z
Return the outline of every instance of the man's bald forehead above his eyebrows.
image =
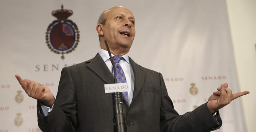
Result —
M106 18L115 17L117 15L128 16L129 19L130 18L135 19L133 16L133 13L130 10L128 10L127 8L123 8L123 7L110 8L110 10L105 12Z

